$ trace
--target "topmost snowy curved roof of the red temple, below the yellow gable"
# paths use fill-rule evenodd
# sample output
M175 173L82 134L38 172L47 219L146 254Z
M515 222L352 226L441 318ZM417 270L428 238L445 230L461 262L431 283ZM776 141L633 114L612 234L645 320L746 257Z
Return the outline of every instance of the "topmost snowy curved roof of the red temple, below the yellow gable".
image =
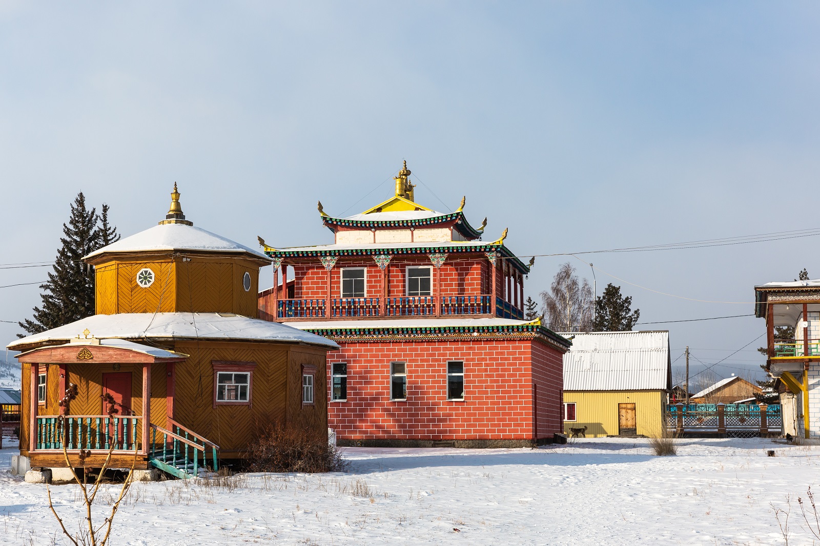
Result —
M321 220L330 231L336 232L339 226L369 230L371 228L415 228L432 227L440 224L453 224L453 229L462 234L464 239L479 239L481 231L472 227L462 211L435 212L430 209L421 211L362 212L348 218L322 216Z

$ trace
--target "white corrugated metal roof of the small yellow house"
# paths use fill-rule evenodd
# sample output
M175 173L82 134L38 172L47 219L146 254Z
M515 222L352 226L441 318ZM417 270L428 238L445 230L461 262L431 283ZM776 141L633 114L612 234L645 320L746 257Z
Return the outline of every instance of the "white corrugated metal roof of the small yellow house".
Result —
M589 332L574 335L563 357L564 390L671 388L669 332Z

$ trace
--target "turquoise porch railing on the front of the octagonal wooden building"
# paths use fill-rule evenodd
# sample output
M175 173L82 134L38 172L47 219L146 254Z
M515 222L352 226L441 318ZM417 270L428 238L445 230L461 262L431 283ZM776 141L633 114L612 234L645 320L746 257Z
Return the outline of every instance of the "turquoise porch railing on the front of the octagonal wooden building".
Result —
M37 417L36 449L66 449L134 452L141 448L143 418L141 416L69 415L65 416L65 430L60 430L57 416Z

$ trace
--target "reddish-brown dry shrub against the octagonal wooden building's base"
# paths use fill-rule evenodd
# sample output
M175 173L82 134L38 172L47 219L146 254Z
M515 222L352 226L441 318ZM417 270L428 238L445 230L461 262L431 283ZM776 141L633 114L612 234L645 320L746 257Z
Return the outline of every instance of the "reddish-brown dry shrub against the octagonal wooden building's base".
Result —
M248 463L255 472L342 472L348 462L324 431L297 429L279 424L262 430L249 446Z

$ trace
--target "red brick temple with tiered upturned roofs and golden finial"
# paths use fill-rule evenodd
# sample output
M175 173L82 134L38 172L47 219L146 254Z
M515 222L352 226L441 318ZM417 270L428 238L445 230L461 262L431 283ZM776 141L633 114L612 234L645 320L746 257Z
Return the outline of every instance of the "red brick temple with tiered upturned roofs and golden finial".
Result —
M339 445L517 447L563 432L570 342L524 321L530 271L456 212L415 202L407 163L395 194L328 216L330 244L271 248L259 316L332 339L328 425ZM281 273L279 273L280 271Z

